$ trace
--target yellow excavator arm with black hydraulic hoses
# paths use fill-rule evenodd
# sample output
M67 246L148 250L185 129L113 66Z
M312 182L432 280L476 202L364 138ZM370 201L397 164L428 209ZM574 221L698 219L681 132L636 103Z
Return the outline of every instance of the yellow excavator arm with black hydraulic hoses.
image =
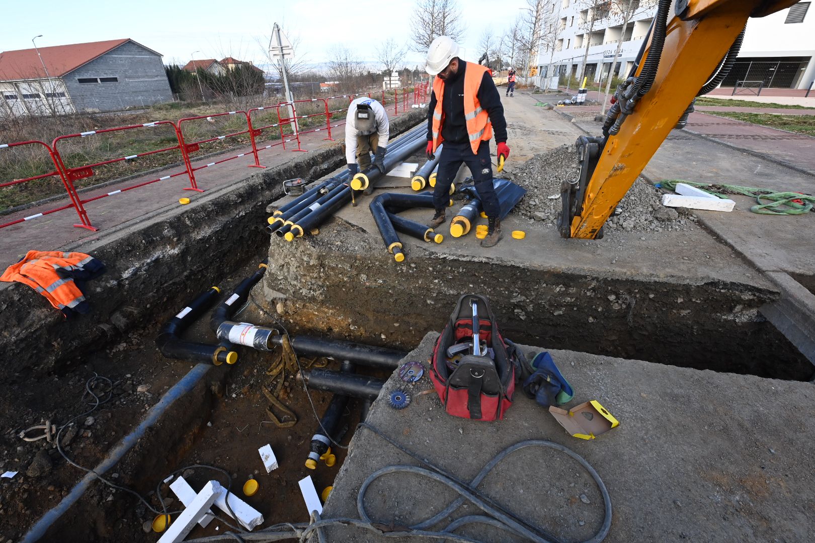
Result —
M715 89L738 55L749 17L798 0L659 0L649 37L599 137L577 140L580 174L562 184L563 238L602 237L602 226L698 95Z

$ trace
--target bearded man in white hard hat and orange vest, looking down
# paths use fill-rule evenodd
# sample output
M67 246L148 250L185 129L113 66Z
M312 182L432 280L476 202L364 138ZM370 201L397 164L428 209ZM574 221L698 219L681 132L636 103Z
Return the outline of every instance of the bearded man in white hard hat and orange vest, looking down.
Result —
M425 70L435 76L428 106L428 160L435 158L434 153L444 142L433 191L436 213L427 226L436 228L445 221L450 185L463 162L473 174L473 184L489 221L481 246L492 247L501 239L501 224L498 196L492 186L490 138L495 126L500 173L504 160L509 158L507 123L489 68L459 59L458 51L450 37L439 36L427 52Z

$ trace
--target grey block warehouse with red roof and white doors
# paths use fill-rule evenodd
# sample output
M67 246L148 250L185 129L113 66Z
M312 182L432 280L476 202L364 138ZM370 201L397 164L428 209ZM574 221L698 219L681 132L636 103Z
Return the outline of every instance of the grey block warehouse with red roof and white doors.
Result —
M0 53L0 117L111 112L173 99L161 54L130 38Z

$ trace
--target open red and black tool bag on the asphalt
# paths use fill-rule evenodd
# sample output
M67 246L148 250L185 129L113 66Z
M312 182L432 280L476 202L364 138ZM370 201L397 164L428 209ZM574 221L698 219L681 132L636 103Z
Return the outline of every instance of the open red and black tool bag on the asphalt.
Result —
M504 418L512 405L515 366L483 296L460 297L433 349L430 380L448 414L474 420Z

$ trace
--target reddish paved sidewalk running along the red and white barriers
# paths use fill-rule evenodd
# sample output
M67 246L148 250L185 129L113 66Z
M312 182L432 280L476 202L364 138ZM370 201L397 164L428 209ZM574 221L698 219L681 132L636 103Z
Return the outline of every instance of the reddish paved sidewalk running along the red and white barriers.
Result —
M411 108L407 109L407 112L411 111L413 111ZM400 110L399 116L403 114L404 112ZM388 115L391 119L397 117L394 116L392 108ZM327 136L324 130L310 134L302 134L300 136L302 149L306 151L316 151L332 145L344 144L344 120L345 117L342 118L341 125L332 128L334 141L324 139ZM267 167L277 166L308 154L292 151L293 149L297 149L296 141L286 143L285 151L283 146L280 145L269 149L262 148L264 145L275 142L277 141L264 142L263 144L258 143L258 147L260 147L258 157L262 165ZM201 152L206 152L205 146L203 145L201 146ZM264 169L249 167L251 164L254 164L251 147L236 147L229 151L224 151L222 154L209 156L205 159L195 160L193 158L192 165L193 167L200 167L240 153L245 153L245 156L228 160L222 164L215 164L214 166L195 172L197 186L205 190L203 193L193 190L183 190L185 187L190 186L189 177L184 173L178 177L171 177L164 181L155 182L148 186L141 186L85 204L85 209L91 224L99 229L97 232L91 232L85 228L73 227L73 225L79 222L77 212L73 208L64 209L63 211L54 212L31 221L25 221L2 228L0 229L0 268L19 260L20 257L29 250L51 251L79 240L90 241L99 239L99 237L105 235L106 230L110 230L113 226L143 217L161 208L181 205L178 203L178 199L180 198L189 198L191 200L200 199L207 195L207 191L230 186L247 177L265 171ZM80 196L81 199L85 200L96 195L112 193L127 186L134 186L141 182L152 181L158 177L164 177L172 173L183 171L183 165L177 165L161 170L160 172L149 173L148 175L131 178L124 182L89 190L81 193ZM271 182L278 183L282 181L284 180L275 179ZM31 217L37 213L58 208L65 204L68 204L67 195L64 199L48 202L47 204L24 209L8 215L2 215L0 216L0 223L14 221L23 217Z

